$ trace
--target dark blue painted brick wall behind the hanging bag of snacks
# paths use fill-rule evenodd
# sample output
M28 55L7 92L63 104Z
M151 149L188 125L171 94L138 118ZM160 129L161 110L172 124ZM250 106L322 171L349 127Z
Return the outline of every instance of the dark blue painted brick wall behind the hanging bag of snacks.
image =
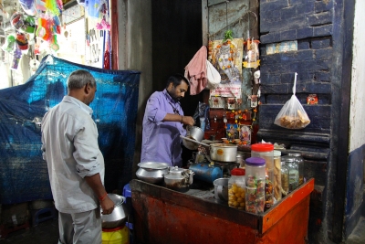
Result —
M334 0L261 0L260 53L261 102L258 139L285 143L290 150L305 152L306 174L316 179L311 197L308 239L326 243L326 175L331 126ZM268 45L297 41L297 50L266 54ZM297 72L297 98L311 120L303 130L287 130L274 124L277 113L292 95ZM307 105L308 94L318 104Z

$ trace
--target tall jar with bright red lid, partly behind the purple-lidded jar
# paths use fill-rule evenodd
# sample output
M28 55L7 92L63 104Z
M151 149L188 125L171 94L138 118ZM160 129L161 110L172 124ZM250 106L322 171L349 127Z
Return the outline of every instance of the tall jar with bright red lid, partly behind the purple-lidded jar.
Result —
M274 145L255 143L251 145L251 156L261 157L266 163L266 203L265 209L274 205Z

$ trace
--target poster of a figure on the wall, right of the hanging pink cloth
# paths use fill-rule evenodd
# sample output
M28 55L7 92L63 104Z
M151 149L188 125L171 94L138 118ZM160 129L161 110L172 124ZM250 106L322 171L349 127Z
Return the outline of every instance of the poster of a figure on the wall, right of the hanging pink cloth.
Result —
M244 39L214 40L212 45L213 50L210 53L209 60L221 75L221 83L215 90L211 90L211 97L221 96L241 99Z

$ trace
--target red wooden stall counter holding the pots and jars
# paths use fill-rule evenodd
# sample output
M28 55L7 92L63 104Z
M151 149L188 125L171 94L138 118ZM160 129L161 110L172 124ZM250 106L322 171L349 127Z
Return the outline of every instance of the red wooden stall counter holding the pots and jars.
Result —
M218 203L211 190L181 193L130 181L134 243L306 243L309 179L265 213L254 215Z

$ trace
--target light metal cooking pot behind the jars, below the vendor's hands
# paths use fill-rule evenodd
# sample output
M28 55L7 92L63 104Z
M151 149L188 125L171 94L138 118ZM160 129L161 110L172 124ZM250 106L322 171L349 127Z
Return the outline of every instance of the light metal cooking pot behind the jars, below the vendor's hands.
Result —
M225 143L210 144L210 156L212 160L221 162L236 162L237 145Z

